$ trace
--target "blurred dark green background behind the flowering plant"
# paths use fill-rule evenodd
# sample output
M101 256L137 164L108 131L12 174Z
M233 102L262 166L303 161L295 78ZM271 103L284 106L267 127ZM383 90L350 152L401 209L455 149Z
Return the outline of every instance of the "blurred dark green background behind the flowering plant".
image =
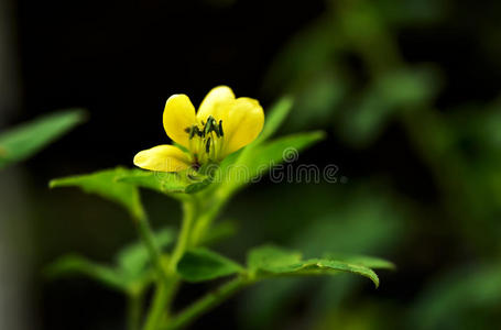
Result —
M242 260L275 242L313 256L393 261L381 287L339 275L263 283L193 329L495 329L501 322L501 3L403 1L0 2L0 130L83 107L87 123L0 172L0 329L123 329L124 301L87 279L48 282L78 252L101 262L135 239L118 207L53 177L132 166L166 141L168 96L225 84L282 132L328 138L299 164L336 183L264 178L230 204ZM179 209L144 191L155 227ZM183 288L184 306L205 285Z

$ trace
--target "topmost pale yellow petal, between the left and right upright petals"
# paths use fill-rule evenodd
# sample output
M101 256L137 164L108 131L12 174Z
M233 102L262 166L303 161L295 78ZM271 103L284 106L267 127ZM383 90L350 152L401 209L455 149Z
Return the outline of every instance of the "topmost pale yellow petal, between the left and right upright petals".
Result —
M228 86L213 88L202 101L197 120L206 121L211 114L216 120L225 120L226 114L235 103L235 94Z

